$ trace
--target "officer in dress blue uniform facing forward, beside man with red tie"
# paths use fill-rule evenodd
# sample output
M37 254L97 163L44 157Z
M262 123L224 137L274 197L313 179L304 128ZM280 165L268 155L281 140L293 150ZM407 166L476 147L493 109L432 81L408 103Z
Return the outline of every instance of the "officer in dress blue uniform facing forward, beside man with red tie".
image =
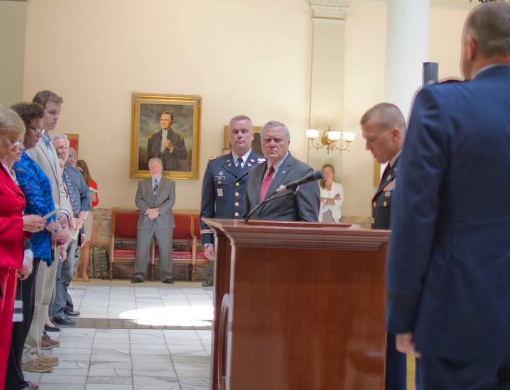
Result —
M253 124L247 116L238 115L231 119L228 124L228 140L232 152L211 157L203 175L200 235L206 247L205 254L211 260L208 280L202 283L203 287L213 285L214 237L213 231L202 222L202 218L241 219L248 172L251 167L266 161L263 156L251 150Z

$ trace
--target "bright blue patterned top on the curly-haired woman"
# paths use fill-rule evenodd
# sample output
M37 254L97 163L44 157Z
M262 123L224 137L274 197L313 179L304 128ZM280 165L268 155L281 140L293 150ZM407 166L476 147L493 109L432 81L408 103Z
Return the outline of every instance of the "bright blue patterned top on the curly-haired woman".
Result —
M55 210L55 203L52 198L52 184L48 176L32 160L27 153L23 151L21 160L14 164L14 172L18 180L19 188L25 194L27 205L24 214L37 214L41 217ZM48 218L55 221L55 215ZM48 266L52 264L52 244L50 242L51 233L46 229L34 233L30 242L34 257L40 258Z

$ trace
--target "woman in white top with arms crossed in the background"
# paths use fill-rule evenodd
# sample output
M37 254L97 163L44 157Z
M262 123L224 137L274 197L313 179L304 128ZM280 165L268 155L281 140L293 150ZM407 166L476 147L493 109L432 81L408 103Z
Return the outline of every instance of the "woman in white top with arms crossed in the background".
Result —
M340 206L344 202L344 188L333 181L334 174L333 165L324 164L322 167L324 178L319 180L321 201L319 222L338 223L342 217Z

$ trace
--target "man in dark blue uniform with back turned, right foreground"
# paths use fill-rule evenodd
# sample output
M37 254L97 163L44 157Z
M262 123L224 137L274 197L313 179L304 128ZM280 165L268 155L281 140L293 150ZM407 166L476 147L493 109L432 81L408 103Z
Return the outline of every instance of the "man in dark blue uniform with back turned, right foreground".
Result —
M510 388L510 5L475 8L466 81L421 89L399 161L387 328L425 390Z

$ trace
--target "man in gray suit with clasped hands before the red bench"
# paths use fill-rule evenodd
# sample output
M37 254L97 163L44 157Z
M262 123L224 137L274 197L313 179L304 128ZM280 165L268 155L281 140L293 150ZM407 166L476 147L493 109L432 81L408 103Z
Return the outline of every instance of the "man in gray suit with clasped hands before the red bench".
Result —
M136 239L135 277L132 283L142 283L147 271L150 244L156 236L160 251L160 278L172 280L172 234L175 222L172 206L175 203L175 181L163 177L163 162L152 158L148 162L150 178L140 180L135 203L140 210Z

